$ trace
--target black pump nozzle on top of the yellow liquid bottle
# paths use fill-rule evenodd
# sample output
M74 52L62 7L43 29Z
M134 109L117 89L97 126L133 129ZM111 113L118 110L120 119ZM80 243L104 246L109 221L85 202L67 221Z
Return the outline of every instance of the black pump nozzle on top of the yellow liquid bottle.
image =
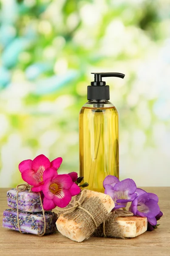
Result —
M91 73L94 74L94 81L91 82L91 86L88 86L88 100L108 100L109 86L105 85L106 82L102 81L102 77L116 76L124 78L122 73Z

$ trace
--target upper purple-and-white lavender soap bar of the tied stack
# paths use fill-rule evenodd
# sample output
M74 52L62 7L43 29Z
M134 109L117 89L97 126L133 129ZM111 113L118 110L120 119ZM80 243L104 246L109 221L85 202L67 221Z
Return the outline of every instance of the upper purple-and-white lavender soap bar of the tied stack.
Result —
M7 192L8 207L17 209L17 190L11 189ZM28 190L18 193L18 209L25 212L42 212L40 195Z

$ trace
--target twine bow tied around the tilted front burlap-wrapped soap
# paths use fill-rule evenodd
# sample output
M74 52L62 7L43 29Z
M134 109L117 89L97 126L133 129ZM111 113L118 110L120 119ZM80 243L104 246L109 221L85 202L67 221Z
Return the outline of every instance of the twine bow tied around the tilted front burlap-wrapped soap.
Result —
M85 208L83 208L81 205L82 203L85 201L86 199L86 196L85 194L87 193L87 190L86 189L83 189L81 192L80 192L80 197L79 197L79 200L76 200L77 199L77 196L74 197L74 201L73 203L70 203L69 205L73 205L72 207L65 207L65 209L59 209L59 214L60 213L64 213L64 215L67 215L67 214L70 214L72 212L74 212L76 209L80 209L84 212L86 212L91 218L92 220L94 221L94 224L96 226L96 228L98 227L98 225L96 224L96 221L94 219L94 216L88 211L86 210Z

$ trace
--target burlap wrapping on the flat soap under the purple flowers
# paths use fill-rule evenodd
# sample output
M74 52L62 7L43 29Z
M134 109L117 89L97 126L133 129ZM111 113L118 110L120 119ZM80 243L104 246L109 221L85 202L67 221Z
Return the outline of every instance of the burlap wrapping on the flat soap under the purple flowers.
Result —
M93 236L98 237L115 237L115 238L122 238L121 230L119 228L118 222L116 218L118 217L130 217L133 216L132 212L128 212L125 210L115 210L109 213L108 218L104 221L94 232Z

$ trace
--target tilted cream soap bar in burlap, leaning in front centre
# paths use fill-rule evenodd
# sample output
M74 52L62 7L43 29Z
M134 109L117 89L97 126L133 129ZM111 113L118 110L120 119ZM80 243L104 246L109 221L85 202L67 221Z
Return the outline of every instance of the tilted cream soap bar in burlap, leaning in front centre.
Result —
M109 195L84 189L65 207L69 212L59 212L57 230L63 236L81 242L94 233L113 208L114 202Z

